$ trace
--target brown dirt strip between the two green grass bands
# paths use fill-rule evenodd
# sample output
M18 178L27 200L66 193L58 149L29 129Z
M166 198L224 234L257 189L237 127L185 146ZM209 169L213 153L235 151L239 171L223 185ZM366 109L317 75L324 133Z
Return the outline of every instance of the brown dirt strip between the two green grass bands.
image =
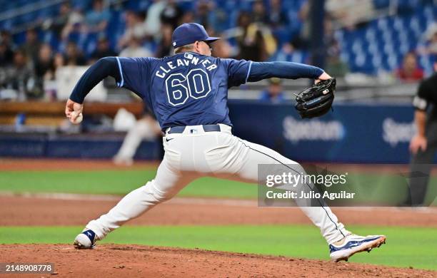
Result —
M77 195L64 195L64 197ZM113 207L109 200L59 200L47 197L0 195L0 225L85 225ZM85 198L86 196L84 196ZM104 199L104 198L102 198ZM336 207L348 225L436 227L437 209ZM297 207L258 207L248 200L174 198L156 206L129 225L265 225L310 224Z

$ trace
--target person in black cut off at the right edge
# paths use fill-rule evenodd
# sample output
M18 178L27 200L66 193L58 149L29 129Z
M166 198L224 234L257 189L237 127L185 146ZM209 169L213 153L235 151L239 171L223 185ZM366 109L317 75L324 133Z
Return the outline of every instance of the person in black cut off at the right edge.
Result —
M403 205L421 206L425 203L429 174L437 150L437 63L434 73L424 79L413 99L414 122L417 133L411 139L410 192ZM430 110L427 113L428 110ZM433 200L431 200L432 202Z

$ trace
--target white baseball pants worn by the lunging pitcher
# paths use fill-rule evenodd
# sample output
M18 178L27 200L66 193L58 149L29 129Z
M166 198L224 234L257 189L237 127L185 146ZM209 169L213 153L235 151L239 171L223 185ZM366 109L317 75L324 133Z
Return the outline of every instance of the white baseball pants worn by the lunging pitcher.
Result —
M163 142L165 155L155 179L130 192L106 215L86 225L100 240L124 222L171 199L198 177L209 175L258 182L258 164L296 165L298 173L303 171L293 160L233 136L227 125L221 125L220 132L205 132L201 125L189 126L184 133L166 134ZM301 210L320 228L328 243L349 233L329 207L301 207Z

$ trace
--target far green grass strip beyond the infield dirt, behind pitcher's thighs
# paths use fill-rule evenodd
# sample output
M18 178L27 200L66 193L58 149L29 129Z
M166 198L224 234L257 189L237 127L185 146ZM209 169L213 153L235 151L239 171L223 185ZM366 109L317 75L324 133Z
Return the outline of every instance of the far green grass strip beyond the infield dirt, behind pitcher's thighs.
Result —
M155 170L0 171L0 191L125 195L155 175ZM407 190L405 177L375 173L350 173L348 187L354 188L349 191L357 192L355 201L373 200L393 205L403 200ZM191 182L179 196L256 199L258 188L243 182L202 177ZM436 177L431 177L427 196L429 202L437 196Z

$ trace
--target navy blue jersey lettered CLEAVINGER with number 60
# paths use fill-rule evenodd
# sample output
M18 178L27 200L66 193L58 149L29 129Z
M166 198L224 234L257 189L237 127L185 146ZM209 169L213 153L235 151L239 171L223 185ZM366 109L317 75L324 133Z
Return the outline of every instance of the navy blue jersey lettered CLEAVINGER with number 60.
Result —
M117 57L117 63L118 85L141 96L164 130L231 125L228 88L246 83L252 62L185 52L165 58Z

